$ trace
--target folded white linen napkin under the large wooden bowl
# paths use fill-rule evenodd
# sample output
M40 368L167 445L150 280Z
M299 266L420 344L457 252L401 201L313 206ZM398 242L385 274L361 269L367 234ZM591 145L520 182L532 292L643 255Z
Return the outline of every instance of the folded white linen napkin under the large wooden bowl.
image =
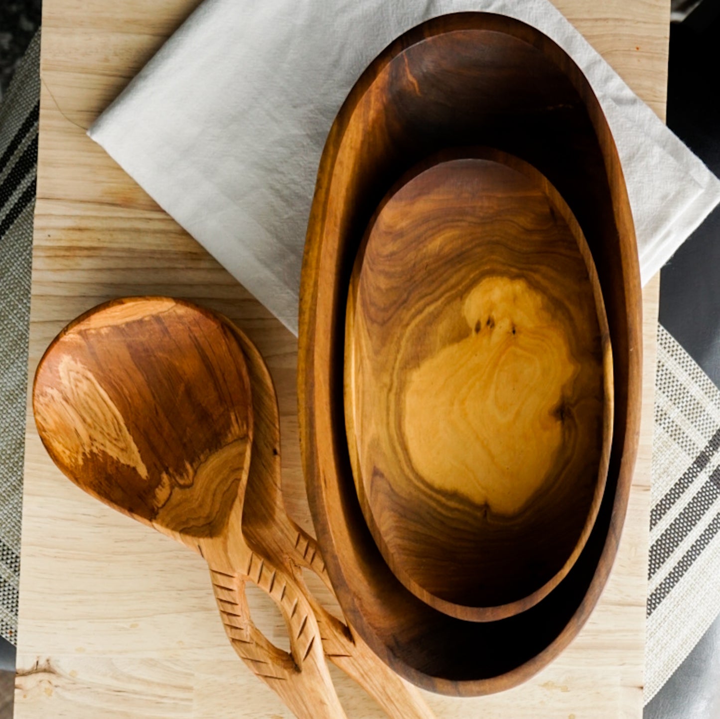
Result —
M89 135L297 334L315 175L338 109L395 37L473 10L534 25L590 80L646 282L720 202L720 181L547 0L205 0Z

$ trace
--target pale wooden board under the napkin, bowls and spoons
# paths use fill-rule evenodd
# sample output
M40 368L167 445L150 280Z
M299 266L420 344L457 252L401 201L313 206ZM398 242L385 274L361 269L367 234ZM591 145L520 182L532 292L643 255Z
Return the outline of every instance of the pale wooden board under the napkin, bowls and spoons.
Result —
M310 529L297 444L297 341L86 137L84 128L199 0L45 0L30 376L73 317L126 294L224 312L277 384L289 510ZM667 0L557 0L664 117ZM202 51L202 49L199 49ZM657 279L645 290L644 418L618 559L570 648L521 687L477 700L426 695L438 718L639 718ZM276 611L254 616L282 645ZM482 648L479 648L482 651ZM66 480L27 422L17 719L289 718L230 647L202 559ZM333 669L348 716L381 717Z

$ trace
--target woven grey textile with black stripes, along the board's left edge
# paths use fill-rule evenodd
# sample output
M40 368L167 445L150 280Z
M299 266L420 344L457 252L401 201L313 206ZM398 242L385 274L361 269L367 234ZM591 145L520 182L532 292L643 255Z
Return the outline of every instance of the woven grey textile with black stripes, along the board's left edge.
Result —
M40 33L0 104L0 636L17 643Z

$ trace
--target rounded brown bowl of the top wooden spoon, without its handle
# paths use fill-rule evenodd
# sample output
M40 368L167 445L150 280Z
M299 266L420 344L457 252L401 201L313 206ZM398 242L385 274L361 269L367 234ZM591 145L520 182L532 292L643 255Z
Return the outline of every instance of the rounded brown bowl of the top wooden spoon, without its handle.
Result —
M210 312L166 298L91 310L40 361L33 410L78 487L196 550L242 510L250 381Z

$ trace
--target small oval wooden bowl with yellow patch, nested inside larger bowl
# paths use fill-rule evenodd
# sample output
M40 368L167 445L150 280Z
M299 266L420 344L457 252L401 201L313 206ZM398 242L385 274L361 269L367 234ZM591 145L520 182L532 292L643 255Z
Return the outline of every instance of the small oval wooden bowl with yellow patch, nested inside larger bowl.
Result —
M360 506L410 592L487 622L557 587L603 497L613 365L588 244L541 173L451 150L384 197L348 291L344 405Z

